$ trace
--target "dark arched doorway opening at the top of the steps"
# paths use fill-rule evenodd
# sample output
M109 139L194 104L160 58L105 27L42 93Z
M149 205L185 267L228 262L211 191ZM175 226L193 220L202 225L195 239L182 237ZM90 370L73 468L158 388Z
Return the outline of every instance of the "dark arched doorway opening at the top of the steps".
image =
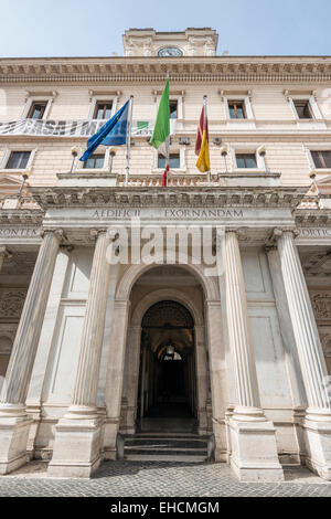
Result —
M138 389L140 430L191 430L196 425L194 321L174 300L152 305L141 322Z

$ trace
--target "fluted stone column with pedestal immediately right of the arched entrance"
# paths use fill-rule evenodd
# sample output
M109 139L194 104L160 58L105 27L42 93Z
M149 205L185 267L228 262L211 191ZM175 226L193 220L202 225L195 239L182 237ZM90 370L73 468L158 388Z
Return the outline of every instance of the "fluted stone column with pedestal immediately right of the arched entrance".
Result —
M229 419L231 465L242 480L281 480L276 430L260 407L238 236L227 231L224 250L228 340L237 405Z

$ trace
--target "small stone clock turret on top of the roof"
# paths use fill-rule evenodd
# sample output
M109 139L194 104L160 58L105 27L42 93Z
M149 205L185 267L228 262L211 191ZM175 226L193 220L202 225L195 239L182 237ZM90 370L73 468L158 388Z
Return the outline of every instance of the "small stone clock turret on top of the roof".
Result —
M129 29L122 39L126 56L214 56L218 34L211 28L189 28L183 32Z

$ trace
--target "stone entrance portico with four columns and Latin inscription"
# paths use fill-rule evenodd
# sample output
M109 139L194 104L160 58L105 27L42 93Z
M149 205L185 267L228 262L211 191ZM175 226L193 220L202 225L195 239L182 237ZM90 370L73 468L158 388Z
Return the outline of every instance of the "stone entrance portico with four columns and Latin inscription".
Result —
M231 187L160 193L109 183L102 194L61 179L46 195L33 188L43 232L34 239L39 254L2 386L1 472L32 456L50 459L52 476L86 477L103 459L116 459L119 437L143 423L143 318L153 305L173 301L192 319L192 415L199 434L213 435L214 459L231 463L243 480L281 480L284 464L300 463L329 479L320 342L329 294L325 212L319 222L313 210L316 227L307 226L311 211L296 209L302 189L278 188L275 197L259 186L238 197ZM179 255L167 264L164 254L162 264L110 265L109 230L126 226L132 251L138 215L141 229L154 223L166 231L170 215L172 224L209 226L216 269L210 275L211 266L190 254L188 263ZM183 341L160 330L151 340L161 347L169 337Z

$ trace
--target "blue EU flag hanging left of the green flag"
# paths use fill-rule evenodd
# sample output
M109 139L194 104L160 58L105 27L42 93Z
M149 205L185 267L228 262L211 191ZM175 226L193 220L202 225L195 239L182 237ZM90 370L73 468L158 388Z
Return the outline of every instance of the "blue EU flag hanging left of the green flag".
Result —
M96 134L89 137L87 149L79 160L85 162L99 145L121 146L127 142L129 103L130 99Z

